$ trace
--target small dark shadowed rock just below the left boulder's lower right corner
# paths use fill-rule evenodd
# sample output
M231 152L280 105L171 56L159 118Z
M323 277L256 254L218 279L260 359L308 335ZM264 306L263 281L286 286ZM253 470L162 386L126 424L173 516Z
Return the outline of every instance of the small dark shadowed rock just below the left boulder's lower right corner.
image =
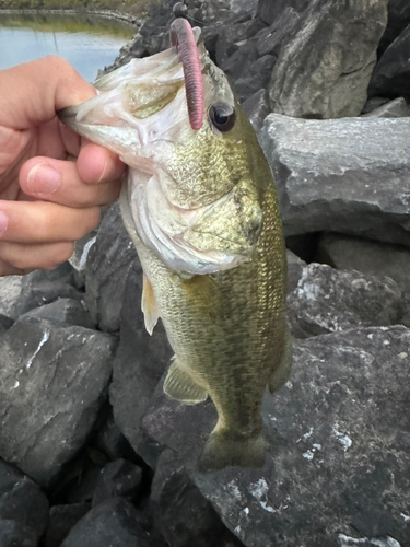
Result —
M117 459L101 470L92 507L95 508L113 498L125 498L130 502L137 500L142 488L142 469L126 459Z

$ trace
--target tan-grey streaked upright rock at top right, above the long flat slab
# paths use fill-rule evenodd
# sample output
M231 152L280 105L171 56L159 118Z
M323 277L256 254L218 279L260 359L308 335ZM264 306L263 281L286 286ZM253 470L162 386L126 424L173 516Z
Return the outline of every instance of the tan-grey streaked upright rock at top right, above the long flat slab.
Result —
M387 0L313 0L274 65L272 112L319 119L358 116L386 23Z

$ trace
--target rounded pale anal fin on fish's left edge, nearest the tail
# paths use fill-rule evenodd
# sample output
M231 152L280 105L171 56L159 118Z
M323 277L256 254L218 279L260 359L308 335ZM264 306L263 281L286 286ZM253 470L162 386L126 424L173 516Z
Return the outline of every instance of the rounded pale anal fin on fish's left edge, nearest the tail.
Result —
M208 393L176 361L169 366L164 382L165 394L185 405L197 405L207 399Z

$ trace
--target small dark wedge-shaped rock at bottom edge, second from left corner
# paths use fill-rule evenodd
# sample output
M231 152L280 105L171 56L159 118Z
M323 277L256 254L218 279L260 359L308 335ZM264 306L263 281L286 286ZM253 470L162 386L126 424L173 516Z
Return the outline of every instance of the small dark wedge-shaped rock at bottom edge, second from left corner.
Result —
M50 521L44 536L44 547L60 547L62 540L75 524L90 511L90 503L54 505Z

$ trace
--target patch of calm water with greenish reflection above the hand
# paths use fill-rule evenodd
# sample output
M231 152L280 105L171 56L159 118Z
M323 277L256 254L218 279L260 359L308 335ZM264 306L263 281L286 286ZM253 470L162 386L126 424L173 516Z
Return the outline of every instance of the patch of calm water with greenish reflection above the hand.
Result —
M130 24L94 15L0 12L0 69L57 54L93 81L134 32Z

